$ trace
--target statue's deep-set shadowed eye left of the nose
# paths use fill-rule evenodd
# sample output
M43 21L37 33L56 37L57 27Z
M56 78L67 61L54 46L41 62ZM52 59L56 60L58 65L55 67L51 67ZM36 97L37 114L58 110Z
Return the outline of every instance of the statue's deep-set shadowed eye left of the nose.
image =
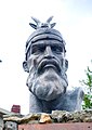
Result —
M31 54L40 54L44 52L45 48L43 46L34 46L31 48Z

